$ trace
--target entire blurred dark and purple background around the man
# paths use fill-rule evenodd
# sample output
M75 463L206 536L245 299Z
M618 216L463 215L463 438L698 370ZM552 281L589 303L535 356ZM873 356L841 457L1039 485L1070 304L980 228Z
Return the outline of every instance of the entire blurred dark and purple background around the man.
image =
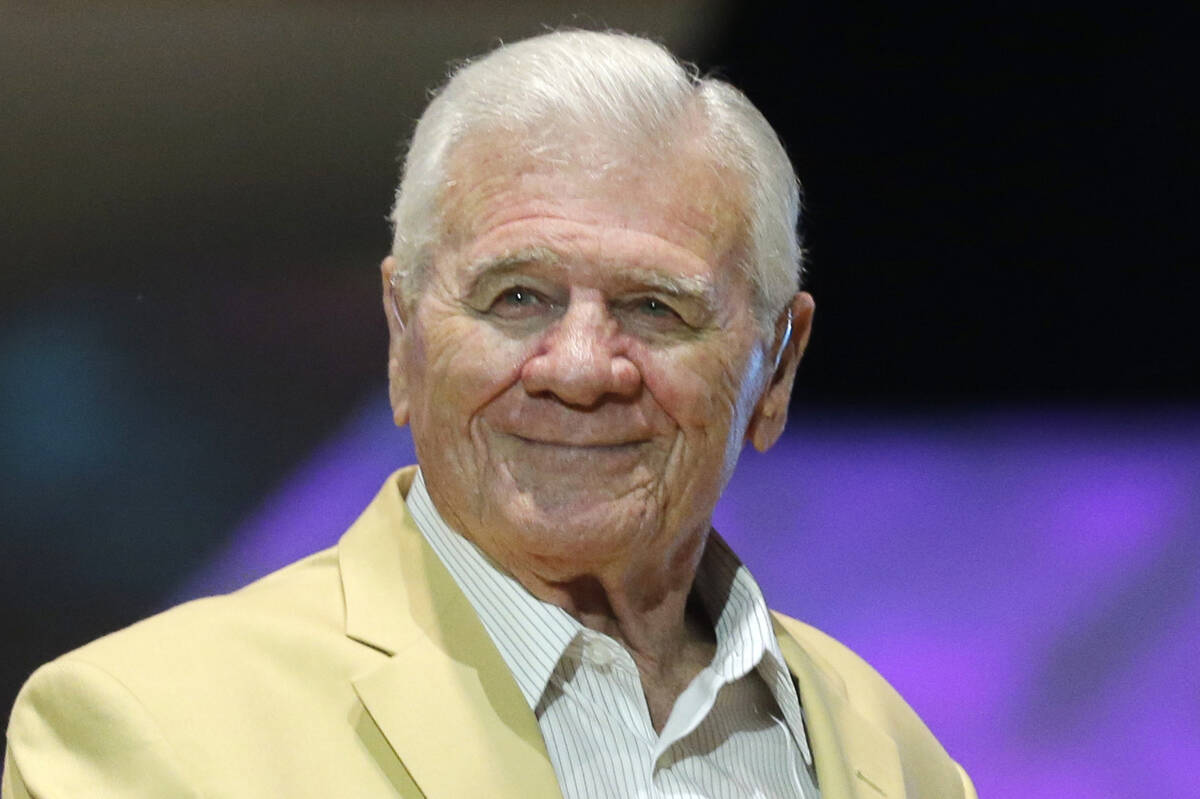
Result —
M743 90L808 193L792 426L718 510L989 797L1200 795L1192 24L1169 6L0 1L0 705L331 545L446 65L546 25Z

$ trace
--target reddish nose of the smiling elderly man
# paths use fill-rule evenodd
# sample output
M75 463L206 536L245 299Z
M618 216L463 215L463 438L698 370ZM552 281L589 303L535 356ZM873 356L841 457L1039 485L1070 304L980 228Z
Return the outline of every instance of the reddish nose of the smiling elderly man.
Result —
M529 394L551 394L587 408L605 398L632 397L642 376L602 299L572 298L526 361L521 380Z

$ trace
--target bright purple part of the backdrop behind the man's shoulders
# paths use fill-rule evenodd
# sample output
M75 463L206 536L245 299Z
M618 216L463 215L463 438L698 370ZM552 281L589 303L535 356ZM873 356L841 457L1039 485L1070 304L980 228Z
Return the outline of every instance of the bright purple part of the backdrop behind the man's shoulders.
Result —
M1200 795L1200 414L809 414L715 515L774 607L875 665L982 795ZM413 461L366 404L176 599L331 545Z

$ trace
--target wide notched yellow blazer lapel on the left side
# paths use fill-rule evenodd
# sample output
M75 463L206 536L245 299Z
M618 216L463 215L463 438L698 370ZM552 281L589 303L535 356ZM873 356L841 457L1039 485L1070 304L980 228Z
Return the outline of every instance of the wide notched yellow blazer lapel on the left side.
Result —
M538 721L394 475L338 543L347 635L389 655L354 690L430 799L558 797Z

